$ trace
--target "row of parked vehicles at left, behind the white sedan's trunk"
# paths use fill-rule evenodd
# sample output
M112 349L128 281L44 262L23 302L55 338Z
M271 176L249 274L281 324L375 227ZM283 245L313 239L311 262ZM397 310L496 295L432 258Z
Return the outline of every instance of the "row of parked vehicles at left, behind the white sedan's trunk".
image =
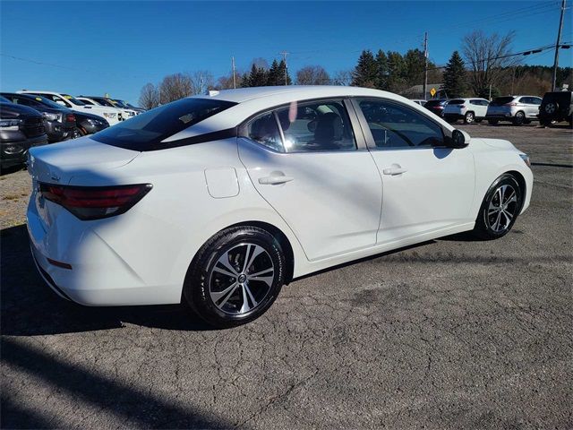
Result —
M23 164L33 146L97 133L144 112L123 100L82 97L88 103L54 91L21 90L0 96L2 169ZM31 126L36 123L40 125Z

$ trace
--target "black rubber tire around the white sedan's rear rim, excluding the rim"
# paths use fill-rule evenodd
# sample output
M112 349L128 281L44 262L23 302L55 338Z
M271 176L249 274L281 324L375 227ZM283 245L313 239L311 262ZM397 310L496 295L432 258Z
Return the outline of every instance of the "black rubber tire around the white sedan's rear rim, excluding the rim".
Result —
M210 298L210 271L218 258L228 249L245 242L260 245L269 253L275 270L278 271L278 276L275 277L267 296L260 305L245 314L227 314L221 311ZM191 273L188 273L184 284L184 298L192 309L208 323L220 328L248 323L264 314L278 297L285 280L286 262L278 241L261 228L238 228L227 235L217 237L204 247L197 261L192 263Z

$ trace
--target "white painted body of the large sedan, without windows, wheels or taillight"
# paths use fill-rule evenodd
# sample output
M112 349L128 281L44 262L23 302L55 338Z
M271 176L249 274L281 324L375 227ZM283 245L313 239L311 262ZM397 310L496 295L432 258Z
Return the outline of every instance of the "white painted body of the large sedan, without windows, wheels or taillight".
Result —
M293 100L361 96L395 100L432 116L378 90L230 90L214 98L238 105L167 140L225 130ZM56 177L60 185L150 183L153 189L122 215L82 221L54 202L41 202L34 186L28 207L31 248L44 276L83 305L175 304L193 256L211 236L236 224L265 223L282 231L293 250L296 278L474 228L483 196L508 171L525 180L525 211L533 175L519 154L509 142L476 138L457 150L277 153L235 137L139 152L86 136L30 150L34 185L54 183ZM406 172L383 173L395 165ZM271 173L293 180L261 184Z

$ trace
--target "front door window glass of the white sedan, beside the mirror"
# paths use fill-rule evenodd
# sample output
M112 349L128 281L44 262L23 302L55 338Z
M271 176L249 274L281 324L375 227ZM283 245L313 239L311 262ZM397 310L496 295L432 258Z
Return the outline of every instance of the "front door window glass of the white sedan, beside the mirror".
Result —
M375 148L429 148L444 144L440 125L414 109L385 100L363 99L358 104Z

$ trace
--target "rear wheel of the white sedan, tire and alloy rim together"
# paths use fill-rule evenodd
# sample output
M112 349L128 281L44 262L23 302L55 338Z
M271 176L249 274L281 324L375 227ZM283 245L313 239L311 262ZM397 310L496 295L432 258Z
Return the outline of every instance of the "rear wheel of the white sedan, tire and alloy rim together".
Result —
M285 282L278 240L256 227L227 228L201 247L184 281L184 300L214 327L249 323L264 314Z

